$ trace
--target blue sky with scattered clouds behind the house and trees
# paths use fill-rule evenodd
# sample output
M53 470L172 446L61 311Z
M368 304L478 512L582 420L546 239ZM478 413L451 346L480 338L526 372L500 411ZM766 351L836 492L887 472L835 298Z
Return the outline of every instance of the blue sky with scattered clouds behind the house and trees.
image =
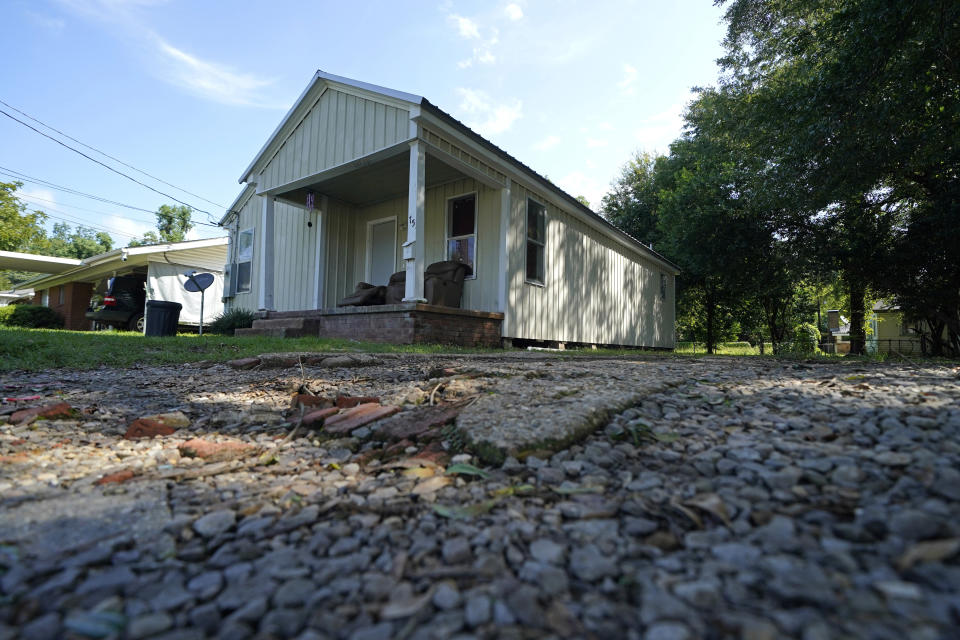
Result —
M427 97L596 209L633 152L680 134L723 37L710 0L4 4L0 100L219 205L83 149L212 214L198 221L219 219L318 68ZM148 211L173 204L0 116L9 170ZM150 213L49 186L22 193L118 245L153 227Z

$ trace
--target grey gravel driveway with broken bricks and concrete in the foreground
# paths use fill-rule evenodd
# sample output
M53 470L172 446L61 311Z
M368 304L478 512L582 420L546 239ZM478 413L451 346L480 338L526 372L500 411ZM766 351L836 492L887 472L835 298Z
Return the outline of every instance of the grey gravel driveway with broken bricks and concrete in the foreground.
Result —
M0 639L958 637L956 366L237 366L0 378Z

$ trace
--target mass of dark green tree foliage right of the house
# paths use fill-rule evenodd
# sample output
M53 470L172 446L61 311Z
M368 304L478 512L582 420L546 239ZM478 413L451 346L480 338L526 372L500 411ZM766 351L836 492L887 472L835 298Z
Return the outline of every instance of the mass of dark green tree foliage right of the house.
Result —
M960 355L960 4L717 3L718 86L668 156L627 162L603 213L683 268L708 343L723 322L788 340L839 277L852 350L883 295Z

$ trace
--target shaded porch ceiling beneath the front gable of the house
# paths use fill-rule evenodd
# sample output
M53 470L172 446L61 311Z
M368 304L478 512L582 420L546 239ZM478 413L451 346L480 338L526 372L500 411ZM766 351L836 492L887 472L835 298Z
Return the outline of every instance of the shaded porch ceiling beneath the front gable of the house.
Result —
M307 192L312 190L356 206L365 206L405 197L409 184L409 169L409 156L405 153L399 154L327 180L321 179L306 187L278 193L277 196L306 206ZM428 188L467 177L429 153L425 173Z

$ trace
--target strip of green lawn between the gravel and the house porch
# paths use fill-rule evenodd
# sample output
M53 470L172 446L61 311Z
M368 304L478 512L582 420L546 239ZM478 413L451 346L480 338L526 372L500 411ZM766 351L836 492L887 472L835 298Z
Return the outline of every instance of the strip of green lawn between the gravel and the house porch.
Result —
M0 326L0 371L95 369L104 365L224 362L271 352L464 353L449 345L393 345L332 338L234 337L179 334L146 337L132 331L63 331Z

